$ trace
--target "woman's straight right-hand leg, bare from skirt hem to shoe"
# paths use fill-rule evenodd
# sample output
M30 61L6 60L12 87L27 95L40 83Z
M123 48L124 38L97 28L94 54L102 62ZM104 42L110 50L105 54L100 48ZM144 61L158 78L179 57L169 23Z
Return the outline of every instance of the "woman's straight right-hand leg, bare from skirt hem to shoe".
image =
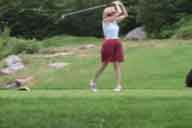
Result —
M120 62L114 62L114 70L115 70L115 77L117 81L117 88L122 88L121 83L121 63Z

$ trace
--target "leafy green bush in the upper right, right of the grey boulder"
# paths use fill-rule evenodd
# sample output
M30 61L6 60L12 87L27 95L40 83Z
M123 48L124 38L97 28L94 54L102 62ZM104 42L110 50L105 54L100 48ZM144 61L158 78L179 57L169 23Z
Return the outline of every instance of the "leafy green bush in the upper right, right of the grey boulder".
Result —
M171 37L177 22L191 13L191 0L139 0L138 20L152 38Z

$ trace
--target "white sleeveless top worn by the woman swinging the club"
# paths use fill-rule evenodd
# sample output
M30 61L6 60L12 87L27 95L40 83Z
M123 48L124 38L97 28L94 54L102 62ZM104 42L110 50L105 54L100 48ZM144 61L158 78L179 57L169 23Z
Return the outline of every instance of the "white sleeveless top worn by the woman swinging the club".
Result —
M118 39L119 38L119 25L116 21L103 22L103 33L105 39Z

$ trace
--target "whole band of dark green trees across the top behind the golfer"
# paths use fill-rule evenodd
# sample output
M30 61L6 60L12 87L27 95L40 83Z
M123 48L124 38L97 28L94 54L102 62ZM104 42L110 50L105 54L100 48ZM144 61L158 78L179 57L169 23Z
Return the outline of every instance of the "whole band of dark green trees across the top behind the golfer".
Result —
M143 25L150 37L167 38L175 25L192 14L191 0L122 0L129 12L122 34ZM1 30L8 26L11 36L38 38L58 34L101 36L102 10L73 15L64 13L92 7L111 0L0 0Z

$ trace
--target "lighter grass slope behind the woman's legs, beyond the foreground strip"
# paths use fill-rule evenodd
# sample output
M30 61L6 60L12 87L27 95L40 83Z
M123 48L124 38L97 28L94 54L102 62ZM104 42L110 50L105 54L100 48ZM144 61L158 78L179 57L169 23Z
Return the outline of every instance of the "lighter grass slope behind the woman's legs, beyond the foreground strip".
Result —
M95 43L96 45L99 42ZM134 46L135 45L135 46ZM79 47L76 44L73 47ZM99 46L99 45L98 45ZM70 46L65 46L65 48ZM181 89L191 68L190 41L146 41L125 44L126 61L122 65L125 88ZM89 80L99 66L99 48L81 50L73 56L51 59L24 55L28 68L19 74L33 74L38 83L34 89L87 89ZM61 70L48 68L50 62L67 62ZM110 65L98 81L98 87L115 86L113 66Z

